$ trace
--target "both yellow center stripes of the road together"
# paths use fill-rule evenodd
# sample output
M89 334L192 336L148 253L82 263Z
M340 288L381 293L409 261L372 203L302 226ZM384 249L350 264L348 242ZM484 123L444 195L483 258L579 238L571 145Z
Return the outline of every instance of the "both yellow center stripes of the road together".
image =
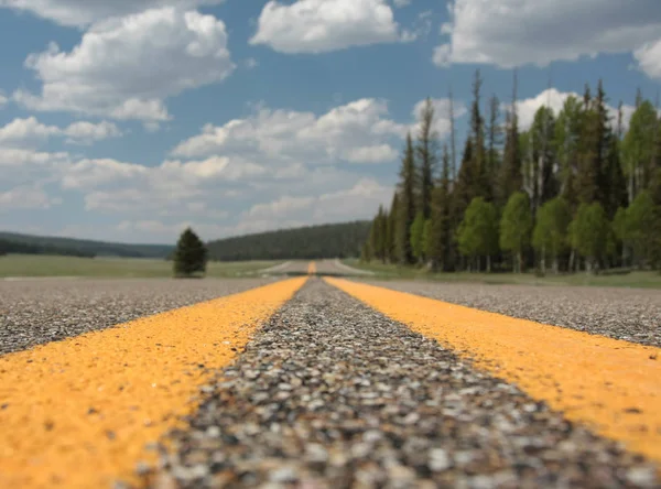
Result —
M316 273L314 263L308 273ZM0 357L0 487L138 482L144 449L307 279L278 282ZM516 383L570 420L661 461L661 349L382 287L325 279Z

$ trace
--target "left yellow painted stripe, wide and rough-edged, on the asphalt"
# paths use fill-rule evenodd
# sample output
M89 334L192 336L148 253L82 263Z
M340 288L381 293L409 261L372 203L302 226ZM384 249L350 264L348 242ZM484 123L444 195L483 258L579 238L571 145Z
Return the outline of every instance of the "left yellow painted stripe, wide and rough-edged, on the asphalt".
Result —
M0 487L106 488L304 284L278 282L0 357ZM204 365L205 368L199 366Z

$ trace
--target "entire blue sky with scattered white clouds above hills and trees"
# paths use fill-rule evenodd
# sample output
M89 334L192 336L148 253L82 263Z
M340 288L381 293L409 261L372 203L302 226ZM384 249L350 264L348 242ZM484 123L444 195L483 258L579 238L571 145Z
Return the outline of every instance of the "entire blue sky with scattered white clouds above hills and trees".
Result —
M0 0L0 229L173 242L369 218L425 97L445 140L452 85L463 140L477 67L485 106L519 68L523 126L599 77L630 115L661 85L661 4Z

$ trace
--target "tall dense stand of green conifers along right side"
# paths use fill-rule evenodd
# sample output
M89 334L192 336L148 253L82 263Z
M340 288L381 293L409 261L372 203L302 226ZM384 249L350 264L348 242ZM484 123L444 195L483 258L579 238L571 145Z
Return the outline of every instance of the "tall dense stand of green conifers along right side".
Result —
M586 84L555 113L540 107L519 127L517 73L501 118L494 95L484 110L473 83L469 132L457 155L454 107L441 145L431 99L407 137L399 183L361 248L364 261L434 271L597 272L661 265L659 101L640 90L625 124L609 113L602 80ZM460 162L457 165L457 156Z

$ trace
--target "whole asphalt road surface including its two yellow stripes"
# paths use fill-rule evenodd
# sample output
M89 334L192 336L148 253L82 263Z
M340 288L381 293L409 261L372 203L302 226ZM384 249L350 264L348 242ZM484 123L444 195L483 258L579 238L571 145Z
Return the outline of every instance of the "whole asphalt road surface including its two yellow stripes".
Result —
M0 487L659 487L661 294L541 290L0 283Z

